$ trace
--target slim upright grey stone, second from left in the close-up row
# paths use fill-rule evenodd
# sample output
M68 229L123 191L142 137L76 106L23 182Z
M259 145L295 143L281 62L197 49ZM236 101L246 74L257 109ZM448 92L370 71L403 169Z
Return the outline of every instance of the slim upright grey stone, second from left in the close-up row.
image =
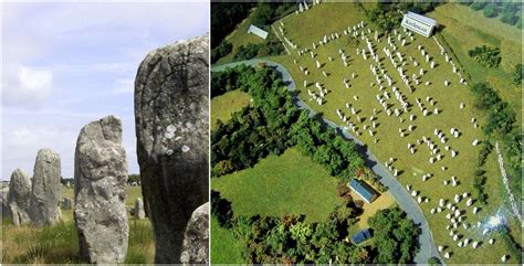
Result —
M50 149L39 150L34 162L30 202L32 224L42 226L60 220L60 156Z

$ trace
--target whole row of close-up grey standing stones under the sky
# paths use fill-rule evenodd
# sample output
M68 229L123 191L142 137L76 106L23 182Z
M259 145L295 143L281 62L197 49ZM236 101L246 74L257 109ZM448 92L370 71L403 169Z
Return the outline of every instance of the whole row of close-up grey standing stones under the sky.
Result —
M209 36L150 52L135 81L137 156L144 202L135 215L151 221L155 263L209 263ZM15 225L60 220L60 156L39 150L31 179L14 170L4 214ZM81 256L123 263L127 253L126 152L122 123L107 116L87 124L76 140L74 221ZM145 208L144 208L145 205Z

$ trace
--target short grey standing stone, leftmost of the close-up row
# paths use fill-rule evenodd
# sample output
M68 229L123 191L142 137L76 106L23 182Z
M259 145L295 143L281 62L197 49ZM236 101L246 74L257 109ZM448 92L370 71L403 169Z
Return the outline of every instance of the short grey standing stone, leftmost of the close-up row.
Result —
M6 198L6 214L12 217L15 226L31 222L30 200L31 179L22 170L17 169L11 173L9 192Z

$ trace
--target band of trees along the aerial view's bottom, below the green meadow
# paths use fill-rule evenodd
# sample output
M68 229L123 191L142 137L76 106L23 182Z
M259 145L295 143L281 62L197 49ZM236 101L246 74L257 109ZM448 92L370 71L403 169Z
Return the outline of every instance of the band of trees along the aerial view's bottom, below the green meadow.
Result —
M370 217L373 243L356 246L349 228L356 226L361 210L352 202L336 206L323 222L308 222L304 215L235 216L217 191L211 192L211 205L219 225L231 228L243 244L245 263L412 263L419 251L421 231L399 208Z

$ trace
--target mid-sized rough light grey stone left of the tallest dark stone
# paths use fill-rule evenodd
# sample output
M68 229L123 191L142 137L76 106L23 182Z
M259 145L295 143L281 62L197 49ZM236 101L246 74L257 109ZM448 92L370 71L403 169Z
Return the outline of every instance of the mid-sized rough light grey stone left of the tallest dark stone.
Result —
M74 219L81 256L97 264L123 263L129 228L120 120L107 116L84 126L76 140L74 164Z

